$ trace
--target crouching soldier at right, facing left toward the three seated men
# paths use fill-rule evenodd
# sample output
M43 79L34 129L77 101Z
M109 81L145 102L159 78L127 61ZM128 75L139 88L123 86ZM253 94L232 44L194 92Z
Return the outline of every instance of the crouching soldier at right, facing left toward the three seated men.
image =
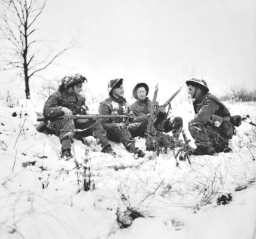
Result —
M197 145L194 154L229 152L228 140L234 134L234 125L227 107L213 94L203 79L186 81L188 94L194 99L196 116L188 123L188 129Z

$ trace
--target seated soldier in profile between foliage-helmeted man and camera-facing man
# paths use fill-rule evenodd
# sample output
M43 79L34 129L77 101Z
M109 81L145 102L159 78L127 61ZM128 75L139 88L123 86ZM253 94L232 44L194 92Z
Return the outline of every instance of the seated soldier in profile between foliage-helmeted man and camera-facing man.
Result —
M129 115L132 112L129 109L129 103L124 99L123 79L112 79L108 84L109 97L103 102L100 102L99 114L100 115ZM144 124L147 122L147 117L130 117L122 122L121 119L101 119L103 128L106 130L109 140L114 142L121 142L126 147L127 151L138 154L138 157L144 157L145 153L135 146L130 131L133 136L139 136L143 133ZM142 122L142 124L136 124ZM134 133L136 131L136 133Z

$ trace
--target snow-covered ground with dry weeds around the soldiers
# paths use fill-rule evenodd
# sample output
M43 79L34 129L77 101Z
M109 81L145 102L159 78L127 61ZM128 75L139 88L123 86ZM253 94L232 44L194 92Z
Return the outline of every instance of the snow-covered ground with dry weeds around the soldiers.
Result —
M75 140L75 159L62 161L59 139L36 131L41 106L2 98L0 238L256 238L256 104L227 106L251 118L230 153L191 156L190 165L173 151L135 158L112 143L113 157L87 137L90 146ZM187 133L192 111L182 93L173 100Z

